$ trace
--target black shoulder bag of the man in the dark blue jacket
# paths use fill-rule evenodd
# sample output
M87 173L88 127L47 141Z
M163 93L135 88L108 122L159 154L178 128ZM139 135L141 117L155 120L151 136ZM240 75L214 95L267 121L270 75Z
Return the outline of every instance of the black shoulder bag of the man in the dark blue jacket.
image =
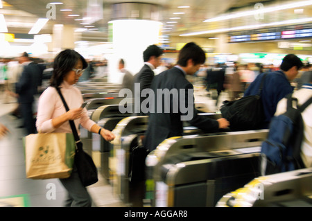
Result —
M258 94L245 96L239 100L225 100L223 102L220 112L229 121L229 128L231 130L257 130L263 125L265 115L263 112L261 91L267 74L265 73L261 79Z

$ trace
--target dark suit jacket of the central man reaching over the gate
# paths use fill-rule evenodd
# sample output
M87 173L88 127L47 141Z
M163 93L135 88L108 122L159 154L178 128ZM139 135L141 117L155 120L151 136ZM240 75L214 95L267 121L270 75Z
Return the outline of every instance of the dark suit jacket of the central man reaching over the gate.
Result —
M155 76L151 89L153 89L155 94L152 105L154 107L154 113L150 113L148 118L148 129L146 130L144 139L144 146L150 151L155 150L159 143L169 137L183 135L183 121L181 120L181 116L187 115L187 113L182 114L180 105L184 107L191 105L188 102L188 95L194 101L193 91L191 94L186 93L185 103L183 104L180 102L180 94L178 99L173 99L173 96L170 96L170 112L166 113L164 108L168 108L168 105L165 105L165 99L162 99L162 104L157 100L157 89L168 89L169 91L172 89L177 89L177 91L185 89L185 92L188 89L193 89L191 82L185 78L184 72L177 67L173 67ZM162 112L157 111L159 105L162 105ZM175 107L178 107L178 112L175 112ZM218 131L218 121L198 115L194 103L190 110L193 112L191 120L188 121L191 125L200 128L204 132Z

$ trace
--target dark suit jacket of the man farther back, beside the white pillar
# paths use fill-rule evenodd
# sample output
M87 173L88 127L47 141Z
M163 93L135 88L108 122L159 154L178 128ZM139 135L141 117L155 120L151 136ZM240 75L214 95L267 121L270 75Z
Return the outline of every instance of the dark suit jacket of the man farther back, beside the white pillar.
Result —
M139 73L135 75L134 84L135 83L140 84L139 91L137 91L137 93L139 94L135 94L135 96L140 97L140 106L141 106L142 101L146 99L146 97L141 97L141 91L143 91L144 89L150 88L150 85L152 84L154 76L155 76L154 71L150 69L150 67L147 64L144 64L144 67L142 67ZM135 91L135 88L133 88L133 91ZM140 113L135 113L135 115L144 116L146 114L144 114L140 108Z

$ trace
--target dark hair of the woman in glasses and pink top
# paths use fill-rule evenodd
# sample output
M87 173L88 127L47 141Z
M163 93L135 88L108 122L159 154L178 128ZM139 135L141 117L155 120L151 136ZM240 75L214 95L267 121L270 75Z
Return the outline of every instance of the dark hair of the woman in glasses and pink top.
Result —
M83 69L88 67L85 58L83 58L83 56L77 51L65 49L56 55L53 62L53 74L50 80L50 86L59 87L64 76L76 66L78 60L83 62Z

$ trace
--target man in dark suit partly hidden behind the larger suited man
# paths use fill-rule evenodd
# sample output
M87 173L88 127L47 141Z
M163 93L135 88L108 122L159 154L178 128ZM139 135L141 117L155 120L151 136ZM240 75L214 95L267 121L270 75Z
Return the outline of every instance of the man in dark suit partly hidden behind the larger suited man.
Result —
M162 63L162 54L162 48L159 48L155 44L148 46L148 48L146 48L146 50L143 52L144 66L141 68L139 73L135 75L134 78L134 97L137 99L139 98L140 100L140 103L137 103L137 105L135 104L135 115L146 115L146 113L142 112L141 110L141 103L146 99L144 96L141 96L141 92L144 89L150 88L150 85L152 84L153 78L155 76L153 69L156 69ZM136 83L139 83L139 86L136 85ZM139 87L139 90L136 89L136 87Z

